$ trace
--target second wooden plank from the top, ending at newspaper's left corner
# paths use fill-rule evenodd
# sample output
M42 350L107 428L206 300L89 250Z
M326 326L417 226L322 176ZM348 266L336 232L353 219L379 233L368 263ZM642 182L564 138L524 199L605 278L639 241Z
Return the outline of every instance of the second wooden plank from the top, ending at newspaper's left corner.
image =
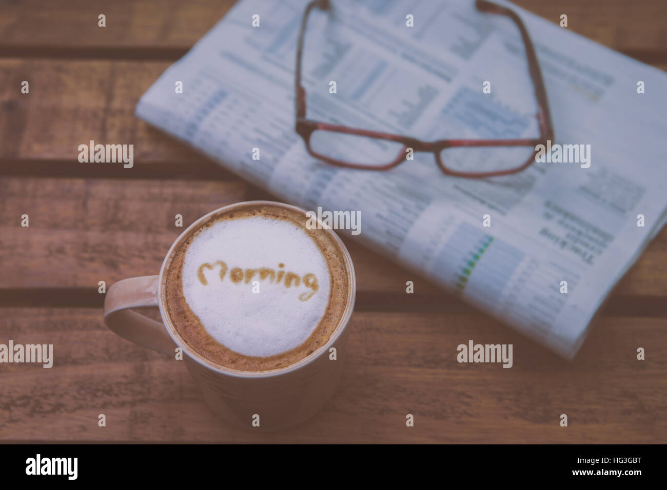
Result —
M162 171L175 167L183 176L218 175L217 163L134 115L141 95L168 66L164 61L0 59L0 79L7 80L0 84L0 173L49 173L37 164L53 161L69 165L73 176L97 169L125 177L155 163ZM23 80L30 83L29 94L21 94ZM91 139L134 145L135 168L79 164L78 147Z

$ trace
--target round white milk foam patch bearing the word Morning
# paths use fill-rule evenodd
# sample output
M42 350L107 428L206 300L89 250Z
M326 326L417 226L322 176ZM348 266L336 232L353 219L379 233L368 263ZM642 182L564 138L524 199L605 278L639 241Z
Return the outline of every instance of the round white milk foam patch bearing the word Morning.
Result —
M331 289L315 241L288 221L261 216L202 229L185 251L182 277L185 302L207 333L259 357L301 345L325 314Z

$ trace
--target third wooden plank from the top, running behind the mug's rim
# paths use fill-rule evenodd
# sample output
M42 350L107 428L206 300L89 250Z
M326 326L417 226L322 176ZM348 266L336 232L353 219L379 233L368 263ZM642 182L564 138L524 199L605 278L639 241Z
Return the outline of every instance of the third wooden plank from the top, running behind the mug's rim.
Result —
M253 198L265 196L253 196ZM266 196L269 199L270 196ZM189 223L248 199L241 181L0 178L0 289L97 289L135 275L157 274ZM21 215L30 226L21 227ZM183 215L183 228L174 217ZM358 291L445 299L436 286L346 239ZM17 257L19 259L17 259ZM664 297L667 229L619 285L618 295ZM93 303L94 304L94 303Z

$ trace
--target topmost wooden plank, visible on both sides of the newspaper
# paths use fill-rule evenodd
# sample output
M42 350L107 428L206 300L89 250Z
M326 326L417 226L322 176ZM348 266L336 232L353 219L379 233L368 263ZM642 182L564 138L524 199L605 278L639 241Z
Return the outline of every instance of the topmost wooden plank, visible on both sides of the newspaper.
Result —
M23 0L6 3L0 15L0 47L11 49L159 49L179 55L189 49L233 5L232 0ZM517 0L554 23L568 15L568 29L620 51L664 54L667 33L662 0L607 0L604 5L579 0ZM107 27L97 16L107 16ZM107 54L109 51L101 51Z

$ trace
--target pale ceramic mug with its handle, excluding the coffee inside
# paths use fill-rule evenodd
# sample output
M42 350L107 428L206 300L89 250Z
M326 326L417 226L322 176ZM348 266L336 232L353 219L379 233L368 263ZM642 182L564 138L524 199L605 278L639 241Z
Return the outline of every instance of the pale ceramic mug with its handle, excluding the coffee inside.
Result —
M346 327L354 309L356 280L350 253L336 233L323 228L340 247L348 269L346 308L327 343L292 365L261 372L237 371L217 365L183 341L171 323L165 303L167 270L173 254L189 231L220 213L250 203L293 209L303 213L305 219L302 209L271 201L235 203L208 213L187 227L171 245L159 275L123 279L109 287L104 302L104 322L121 337L167 353L175 359L174 362L180 362L176 360L176 349L180 347L182 359L199 384L205 402L226 421L248 428L259 424L269 430L283 429L315 415L331 399L340 379L349 332ZM162 323L133 311L147 307L159 308Z

